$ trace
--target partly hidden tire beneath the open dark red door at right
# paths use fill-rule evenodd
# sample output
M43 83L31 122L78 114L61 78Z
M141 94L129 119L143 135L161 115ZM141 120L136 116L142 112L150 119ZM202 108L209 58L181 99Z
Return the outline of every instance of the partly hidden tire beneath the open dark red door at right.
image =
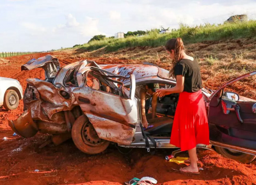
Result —
M256 156L245 154L243 152L232 151L223 147L215 146L215 150L225 158L234 159L235 161L239 161L240 163L250 163L253 161L253 159L256 158Z

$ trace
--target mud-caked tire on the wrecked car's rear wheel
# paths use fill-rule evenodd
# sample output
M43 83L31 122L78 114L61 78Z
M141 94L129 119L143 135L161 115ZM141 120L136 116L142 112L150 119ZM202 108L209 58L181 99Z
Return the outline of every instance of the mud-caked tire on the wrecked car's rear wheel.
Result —
M84 136L84 128L86 126L88 126L92 132L86 135L87 138ZM95 142L95 144L94 141L93 143L90 143L90 138L88 138L89 135L92 135L93 140L98 140L98 142ZM81 115L74 122L72 126L72 140L76 147L86 154L99 154L100 152L105 151L109 145L108 140L102 140L98 137L88 117L85 115Z

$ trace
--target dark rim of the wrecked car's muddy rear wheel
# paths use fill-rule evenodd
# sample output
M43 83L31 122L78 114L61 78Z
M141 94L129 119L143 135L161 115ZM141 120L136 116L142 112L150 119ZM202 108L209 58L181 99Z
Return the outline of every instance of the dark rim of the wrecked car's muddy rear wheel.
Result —
M97 132L93 128L93 125L90 121L87 121L82 129L81 133L83 137L83 141L85 144L91 145L91 146L99 146L104 143L104 140L99 138L97 135Z

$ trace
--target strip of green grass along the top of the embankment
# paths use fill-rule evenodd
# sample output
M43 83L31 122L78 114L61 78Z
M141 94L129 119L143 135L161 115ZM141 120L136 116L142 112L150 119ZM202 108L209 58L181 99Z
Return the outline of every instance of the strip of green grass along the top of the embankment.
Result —
M171 38L181 37L184 43L197 43L201 41L216 41L225 39L254 38L256 35L256 21L227 23L221 25L205 24L204 26L189 27L180 25L172 33L158 34L156 31L143 37L131 36L122 39L106 38L100 41L91 41L82 45L83 50L97 50L106 47L107 51L115 51L127 47L159 47Z

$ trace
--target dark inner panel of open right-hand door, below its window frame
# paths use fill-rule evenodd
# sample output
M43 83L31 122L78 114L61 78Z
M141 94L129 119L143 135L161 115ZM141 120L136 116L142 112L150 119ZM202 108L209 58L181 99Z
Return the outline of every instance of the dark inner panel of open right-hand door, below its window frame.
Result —
M221 133L230 137L255 141L253 105L255 100L240 101L238 94L222 90L210 103L209 124L215 124Z

